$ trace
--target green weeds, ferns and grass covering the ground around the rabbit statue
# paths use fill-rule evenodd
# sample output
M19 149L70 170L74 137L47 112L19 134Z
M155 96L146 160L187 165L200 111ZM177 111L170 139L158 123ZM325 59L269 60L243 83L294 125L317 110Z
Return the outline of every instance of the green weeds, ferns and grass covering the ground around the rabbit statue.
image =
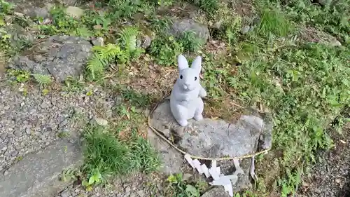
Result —
M208 21L223 12L221 1L185 3L197 5ZM50 12L51 22L45 23L41 18L34 20L38 23L39 36L102 36L106 43L92 49L85 79L113 88L128 103L116 108L118 123L115 127L87 127L85 184L90 186L130 169L156 169L159 165L157 156L140 137L144 133L134 127L146 121L135 112L135 107L150 107L152 102L169 93L173 83L173 79L146 76L145 70L150 69L150 65L157 65L161 74L176 72L176 56L186 53L190 57L203 56L202 81L209 92L207 116L231 121L235 118L237 105L254 106L273 116L273 149L269 155L258 158L257 170L261 179L256 183L255 191L237 196L295 193L302 176L307 174L312 163L317 162L316 150L332 147L330 134L325 130L328 123L350 104L349 1L326 6L307 0L251 2L260 21L251 32L242 34L241 18L244 16L228 18L223 22L225 25L214 28L218 33L211 35L213 41L224 43L223 47L211 42L202 43L193 32L183 32L181 36L169 34L166 30L172 21L157 12L176 4L171 0L98 1L78 19L70 17L64 7L55 6ZM102 8L106 10L101 12ZM227 9L231 9L230 6ZM10 12L9 4L2 1L1 11L4 14ZM134 18L137 13L143 13L141 22ZM130 23L121 25L124 21ZM13 55L13 51L28 46L27 43L20 47L9 44L6 29L1 24L1 49ZM319 39L302 39L300 31L308 27L334 36L342 46L332 46ZM148 31L152 32L153 41L148 48L142 48L139 41L150 34ZM127 76L127 72L135 72L137 77L130 79L135 76ZM30 78L24 72L9 70L8 74L20 83ZM144 78L151 85L141 91L137 89L137 83ZM117 80L120 85L111 85L107 79ZM38 75L34 80L42 85L49 81ZM161 85L155 86L159 83ZM71 84L78 83L72 80L66 84L72 87ZM135 92L131 92L130 87ZM123 138L131 134L130 139ZM172 177L170 185L181 184L180 189L174 187L176 189L172 191L183 196L196 196L188 192L196 193L199 189L184 184L180 178Z

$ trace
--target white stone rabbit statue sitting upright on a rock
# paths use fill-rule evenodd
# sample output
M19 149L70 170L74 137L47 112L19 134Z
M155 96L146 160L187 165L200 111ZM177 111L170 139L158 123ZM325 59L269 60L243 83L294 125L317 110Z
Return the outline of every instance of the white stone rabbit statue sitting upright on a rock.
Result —
M170 109L181 126L188 125L191 118L195 118L196 121L203 119L202 97L207 96L207 91L200 85L201 63L202 57L197 56L191 67L188 67L186 57L178 57L179 78L170 95Z

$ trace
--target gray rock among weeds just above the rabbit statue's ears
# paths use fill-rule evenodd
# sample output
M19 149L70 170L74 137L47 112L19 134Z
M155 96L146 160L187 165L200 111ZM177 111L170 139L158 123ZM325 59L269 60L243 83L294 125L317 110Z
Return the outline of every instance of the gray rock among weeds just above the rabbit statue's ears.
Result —
M181 36L183 32L188 31L195 32L197 38L202 39L203 42L207 42L209 39L208 27L189 19L174 19L171 27L168 29L168 33L174 36Z

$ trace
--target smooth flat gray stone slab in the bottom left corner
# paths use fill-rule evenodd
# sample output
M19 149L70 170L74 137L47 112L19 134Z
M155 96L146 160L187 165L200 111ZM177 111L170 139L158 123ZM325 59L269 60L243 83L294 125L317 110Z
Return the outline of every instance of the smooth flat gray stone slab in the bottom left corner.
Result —
M2 197L48 197L68 186L59 181L66 168L75 168L83 161L78 140L61 140L47 149L25 156L0 174Z

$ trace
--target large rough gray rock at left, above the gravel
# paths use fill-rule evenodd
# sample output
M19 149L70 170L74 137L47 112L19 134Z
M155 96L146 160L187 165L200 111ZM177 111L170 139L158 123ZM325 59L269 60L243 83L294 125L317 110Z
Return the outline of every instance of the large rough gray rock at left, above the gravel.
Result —
M51 74L56 81L79 76L92 48L89 41L75 36L50 36L15 57L9 67L35 74Z

